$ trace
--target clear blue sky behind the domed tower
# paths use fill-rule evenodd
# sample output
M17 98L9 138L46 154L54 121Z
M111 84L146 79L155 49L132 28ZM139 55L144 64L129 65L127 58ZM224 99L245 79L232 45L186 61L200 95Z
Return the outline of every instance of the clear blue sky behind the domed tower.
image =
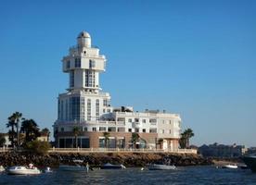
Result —
M179 113L194 144L256 146L256 1L2 1L0 131L40 128L68 87L61 58L88 31L107 56L112 105Z

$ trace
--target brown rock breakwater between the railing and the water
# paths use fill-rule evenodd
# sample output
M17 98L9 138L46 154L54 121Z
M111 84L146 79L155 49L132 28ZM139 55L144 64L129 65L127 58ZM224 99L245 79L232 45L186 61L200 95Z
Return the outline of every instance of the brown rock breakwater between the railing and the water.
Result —
M164 164L174 166L211 165L212 161L198 154L147 154L147 153L94 153L94 154L47 154L35 155L28 153L2 153L2 166L35 166L57 167L59 164L73 165L73 160L83 160L83 166L100 166L106 163L122 164L124 166L146 166L147 164Z

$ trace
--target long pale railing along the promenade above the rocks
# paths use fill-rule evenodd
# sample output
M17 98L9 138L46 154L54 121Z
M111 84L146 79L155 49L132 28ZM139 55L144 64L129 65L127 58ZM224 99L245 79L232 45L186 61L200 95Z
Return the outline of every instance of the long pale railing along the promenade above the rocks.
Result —
M197 154L195 149L51 148L49 153L175 153Z

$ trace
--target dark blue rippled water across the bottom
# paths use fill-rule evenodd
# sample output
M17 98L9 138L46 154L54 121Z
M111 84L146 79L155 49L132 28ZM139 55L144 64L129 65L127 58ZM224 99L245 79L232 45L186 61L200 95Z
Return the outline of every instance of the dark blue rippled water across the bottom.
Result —
M173 171L141 171L140 168L95 170L89 173L55 169L36 176L0 175L0 184L256 184L256 173L213 166L178 167Z

